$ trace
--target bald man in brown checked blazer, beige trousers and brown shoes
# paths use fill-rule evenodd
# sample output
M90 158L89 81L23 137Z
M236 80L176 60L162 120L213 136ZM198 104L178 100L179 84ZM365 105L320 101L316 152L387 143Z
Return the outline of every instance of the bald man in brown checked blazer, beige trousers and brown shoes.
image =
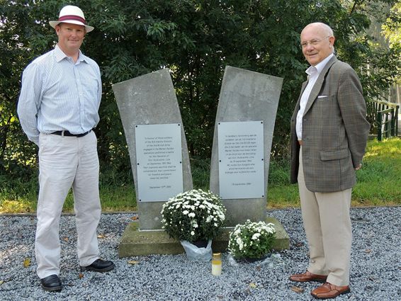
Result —
M299 186L310 263L290 280L323 282L311 292L318 299L350 290L351 188L370 129L361 83L334 55L334 40L324 23L300 34L310 67L291 118L290 181Z

